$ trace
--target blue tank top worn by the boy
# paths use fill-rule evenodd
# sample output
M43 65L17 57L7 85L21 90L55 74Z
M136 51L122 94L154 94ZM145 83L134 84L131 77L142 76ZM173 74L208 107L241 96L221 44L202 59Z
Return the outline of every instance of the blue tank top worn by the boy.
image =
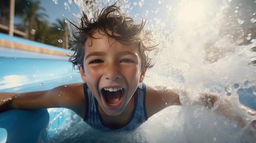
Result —
M101 115L99 114L97 99L90 92L87 83L83 85L86 111L84 121L88 123L92 128L97 130L114 130L104 126ZM134 109L132 111L132 118L129 123L124 127L116 130L134 130L144 123L147 118L145 100L146 99L146 85L139 83L137 90L134 93Z

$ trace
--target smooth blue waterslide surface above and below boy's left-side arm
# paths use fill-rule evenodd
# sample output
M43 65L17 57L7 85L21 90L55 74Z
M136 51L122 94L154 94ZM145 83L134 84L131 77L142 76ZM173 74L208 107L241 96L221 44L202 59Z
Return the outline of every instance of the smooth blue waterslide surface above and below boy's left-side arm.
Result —
M70 53L66 49L2 33L0 38ZM72 69L68 58L68 56L0 47L0 92L47 90L64 84L81 82L80 74ZM58 110L63 112L67 109L59 108ZM48 138L54 136L54 132L47 129L60 124L58 122L62 120L54 122L56 117L59 115L54 112L54 108L2 112L0 113L0 143L33 143L45 132Z

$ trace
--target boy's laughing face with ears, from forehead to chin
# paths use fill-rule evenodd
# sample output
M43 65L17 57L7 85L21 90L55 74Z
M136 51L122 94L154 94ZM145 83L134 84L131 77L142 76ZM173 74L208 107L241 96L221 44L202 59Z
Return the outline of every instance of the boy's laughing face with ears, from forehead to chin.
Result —
M124 45L98 32L92 36L95 39L85 42L81 77L104 112L115 116L126 107L146 69L141 69L137 44Z

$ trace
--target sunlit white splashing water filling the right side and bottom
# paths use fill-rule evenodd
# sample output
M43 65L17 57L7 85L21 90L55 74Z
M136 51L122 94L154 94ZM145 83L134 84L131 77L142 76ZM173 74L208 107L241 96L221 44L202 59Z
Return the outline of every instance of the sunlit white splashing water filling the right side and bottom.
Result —
M101 9L115 0L74 2L90 16L94 7ZM254 142L255 138L247 133L249 126L240 128L214 110L191 104L200 92L211 91L231 96L235 105L241 102L256 110L256 3L253 0L120 0L119 3L137 23L140 15L149 16L146 30L155 42L160 42L157 53L151 53L156 64L148 70L145 83L185 90L188 95L180 95L184 106L166 108L128 133L102 133L79 118L70 119L66 128L72 131L58 131L56 141L61 136L64 141L87 142ZM256 119L248 115L245 118Z

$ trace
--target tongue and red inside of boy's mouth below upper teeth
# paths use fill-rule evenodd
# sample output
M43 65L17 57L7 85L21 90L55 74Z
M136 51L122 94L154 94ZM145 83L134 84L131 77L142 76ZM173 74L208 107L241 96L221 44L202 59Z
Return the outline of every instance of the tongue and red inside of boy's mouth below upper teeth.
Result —
M122 91L121 90L118 90L117 92L105 91L104 92L104 97L105 97L105 99L108 103L117 104L121 100Z

